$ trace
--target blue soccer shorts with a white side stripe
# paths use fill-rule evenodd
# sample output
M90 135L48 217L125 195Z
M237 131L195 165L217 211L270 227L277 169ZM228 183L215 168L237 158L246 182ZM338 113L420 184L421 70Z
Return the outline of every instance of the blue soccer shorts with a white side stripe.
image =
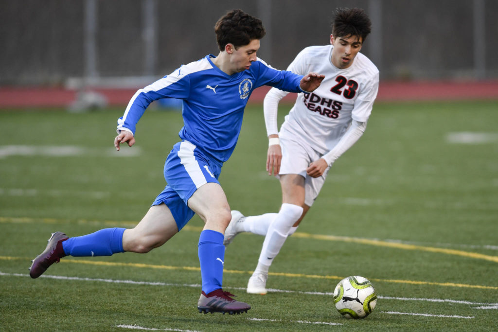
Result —
M189 141L176 143L164 163L164 179L168 185L152 205L166 204L180 231L195 214L187 206L188 200L206 183L220 184L221 167L220 162L207 157Z

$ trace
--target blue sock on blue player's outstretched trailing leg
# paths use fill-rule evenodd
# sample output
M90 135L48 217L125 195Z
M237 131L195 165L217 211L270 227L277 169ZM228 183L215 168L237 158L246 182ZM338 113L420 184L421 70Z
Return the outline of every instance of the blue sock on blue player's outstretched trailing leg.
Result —
M123 250L125 228L105 228L95 233L70 237L62 242L66 255L71 256L111 256Z

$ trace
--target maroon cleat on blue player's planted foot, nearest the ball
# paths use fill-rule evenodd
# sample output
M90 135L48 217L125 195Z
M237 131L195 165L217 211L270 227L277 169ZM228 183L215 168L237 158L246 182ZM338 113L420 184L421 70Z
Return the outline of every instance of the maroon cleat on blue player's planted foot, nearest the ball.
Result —
M247 313L250 306L247 303L232 299L231 296L235 295L230 292L224 292L221 288L209 294L203 291L197 303L197 309L199 309L200 313L204 314L223 313L225 315L225 313L229 313L233 315Z

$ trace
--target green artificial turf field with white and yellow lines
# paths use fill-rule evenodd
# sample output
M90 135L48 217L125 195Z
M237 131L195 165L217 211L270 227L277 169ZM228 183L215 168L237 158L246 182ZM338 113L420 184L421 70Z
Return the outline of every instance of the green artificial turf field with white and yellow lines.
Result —
M180 114L147 111L135 146L116 152L122 113L0 111L1 331L497 330L498 102L377 103L275 259L267 295L245 293L263 237L227 246L224 289L252 306L235 316L197 311L197 216L147 254L66 257L29 278L51 232L132 227L163 189ZM261 108L250 106L220 177L246 215L280 205L266 148ZM376 288L364 320L334 308L349 275Z

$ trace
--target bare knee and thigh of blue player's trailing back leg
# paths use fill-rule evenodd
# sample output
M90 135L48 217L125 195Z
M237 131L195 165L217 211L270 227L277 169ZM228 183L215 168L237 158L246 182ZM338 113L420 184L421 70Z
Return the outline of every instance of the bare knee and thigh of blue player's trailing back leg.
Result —
M169 208L165 204L153 205L138 224L126 229L123 234L123 249L158 247L178 232L178 227ZM138 250L138 251L148 251Z

